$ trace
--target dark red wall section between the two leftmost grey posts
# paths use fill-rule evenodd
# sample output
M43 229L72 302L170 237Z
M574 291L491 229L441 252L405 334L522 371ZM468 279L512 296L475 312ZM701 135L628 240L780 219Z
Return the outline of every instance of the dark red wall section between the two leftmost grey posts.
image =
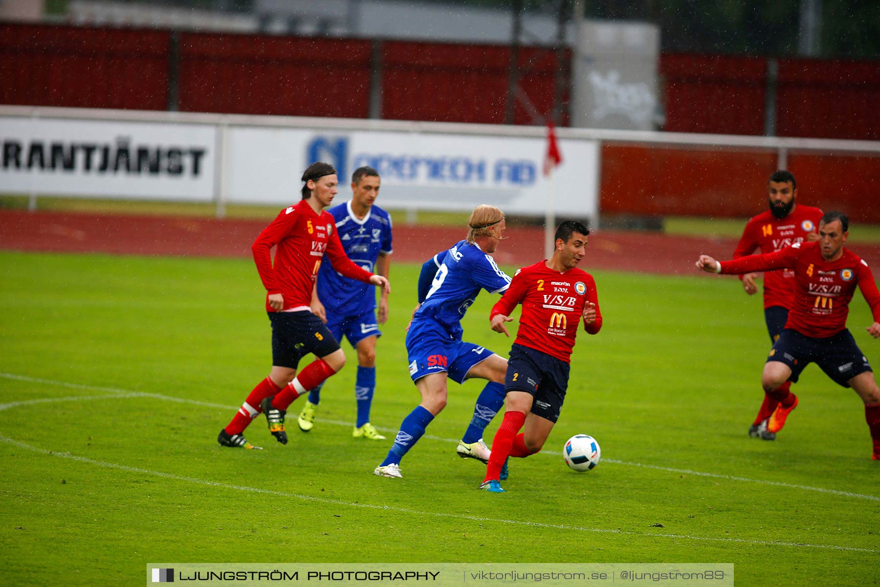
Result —
M180 110L366 118L368 40L180 35Z

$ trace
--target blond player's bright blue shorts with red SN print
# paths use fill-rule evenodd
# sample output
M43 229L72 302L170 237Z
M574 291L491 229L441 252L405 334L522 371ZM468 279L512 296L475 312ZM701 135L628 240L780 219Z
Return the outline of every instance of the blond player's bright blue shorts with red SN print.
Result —
M451 337L433 319L414 319L407 333L409 376L414 382L431 373L445 371L452 381L460 384L473 365L492 355L495 353L489 349Z

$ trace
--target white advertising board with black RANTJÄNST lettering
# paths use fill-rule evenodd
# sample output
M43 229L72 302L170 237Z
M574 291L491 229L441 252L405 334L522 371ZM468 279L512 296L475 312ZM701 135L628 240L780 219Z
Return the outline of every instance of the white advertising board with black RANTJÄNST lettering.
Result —
M209 124L0 116L0 192L210 202Z

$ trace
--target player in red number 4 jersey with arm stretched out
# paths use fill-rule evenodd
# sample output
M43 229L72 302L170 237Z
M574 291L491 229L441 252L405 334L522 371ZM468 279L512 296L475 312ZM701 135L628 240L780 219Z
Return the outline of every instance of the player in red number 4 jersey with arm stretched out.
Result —
M791 269L795 295L788 322L774 342L764 365L761 385L779 401L770 417L769 429L778 432L797 398L785 383L797 381L803 368L817 363L825 375L844 387L852 387L865 404L865 421L874 444L873 459L880 459L880 389L868 359L847 330L849 302L855 287L871 308L874 323L868 333L880 338L880 291L868 263L843 247L849 221L840 212L827 212L819 222L819 240L796 243L775 253L737 260L717 261L700 255L697 267L708 272L744 274L749 271Z

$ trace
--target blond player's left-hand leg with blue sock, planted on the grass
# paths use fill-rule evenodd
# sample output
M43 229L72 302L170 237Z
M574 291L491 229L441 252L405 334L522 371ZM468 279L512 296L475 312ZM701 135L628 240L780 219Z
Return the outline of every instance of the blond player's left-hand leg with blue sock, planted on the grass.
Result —
M422 395L422 403L400 423L400 431L394 437L394 444L385 460L373 470L374 475L402 477L400 459L419 442L428 424L446 407L446 371L419 378L415 382L415 388Z

